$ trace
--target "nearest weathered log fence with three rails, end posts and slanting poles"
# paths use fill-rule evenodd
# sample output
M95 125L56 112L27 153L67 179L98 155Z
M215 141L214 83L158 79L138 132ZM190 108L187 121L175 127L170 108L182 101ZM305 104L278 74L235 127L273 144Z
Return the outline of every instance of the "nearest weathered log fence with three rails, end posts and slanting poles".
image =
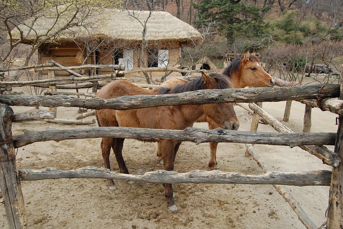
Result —
M0 82L0 84L5 82ZM18 83L19 84L19 83ZM13 83L14 85L14 83ZM63 95L54 96L0 96L0 187L4 197L6 215L10 228L26 228L27 219L24 209L24 198L20 180L41 180L53 178L103 178L121 179L153 183L239 183L239 184L273 184L278 192L291 204L301 222L307 228L316 228L314 223L302 211L301 206L284 192L278 185L330 185L327 228L340 228L343 225L343 197L341 184L343 179L343 118L340 85L325 84L297 87L246 88L223 90L199 90L179 94L160 96L131 96L116 99L80 99ZM204 130L187 128L185 130L159 130L124 127L93 127L72 130L49 129L45 131L27 131L22 135L12 136L11 122L14 114L9 106L45 106L45 107L84 107L90 109L132 109L177 104L203 104L222 102L253 103L262 101L284 100L316 100L317 106L339 114L337 133L293 133L290 129L277 122L262 108L250 104L254 111L254 119L262 119L271 124L281 133L263 133L231 130ZM254 120L253 119L253 120ZM252 124L252 130L257 124ZM244 136L244 137L243 137ZM175 171L158 170L142 176L119 174L104 168L85 167L74 170L56 170L51 168L32 170L17 169L15 148L33 142L66 139L84 139L101 137L122 137L133 139L173 139L177 141L201 142L239 142L247 145L249 153L265 171L265 175L245 175L223 173L220 171L190 171L178 174ZM283 139L280 141L280 139ZM329 170L307 171L302 173L273 172L256 154L252 144L274 144L299 146L333 167ZM335 151L322 145L335 145Z

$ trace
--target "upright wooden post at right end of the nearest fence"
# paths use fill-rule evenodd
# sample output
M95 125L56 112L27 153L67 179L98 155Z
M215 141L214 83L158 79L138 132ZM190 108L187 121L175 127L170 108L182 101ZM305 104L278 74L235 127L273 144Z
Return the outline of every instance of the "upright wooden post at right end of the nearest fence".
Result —
M342 81L340 82L339 99L343 99ZM335 152L337 152L341 163L338 167L332 168L327 219L328 229L343 228L343 116L339 116L338 121Z

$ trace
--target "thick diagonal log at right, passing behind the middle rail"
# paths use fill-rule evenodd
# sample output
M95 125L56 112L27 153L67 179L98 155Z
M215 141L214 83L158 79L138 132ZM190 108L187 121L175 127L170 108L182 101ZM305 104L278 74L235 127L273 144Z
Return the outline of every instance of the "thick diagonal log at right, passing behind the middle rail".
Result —
M277 121L275 118L270 116L267 112L265 112L262 108L256 106L255 104L249 104L249 107L257 112L266 122L268 122L271 126L274 127L279 132L283 133L292 133L293 131L289 129L287 126L283 125L279 121ZM308 151L310 154L316 156L320 160L322 160L323 163L337 167L340 164L340 159L338 155L335 152L332 152L325 146L315 146L315 145L302 145L299 146L303 150Z

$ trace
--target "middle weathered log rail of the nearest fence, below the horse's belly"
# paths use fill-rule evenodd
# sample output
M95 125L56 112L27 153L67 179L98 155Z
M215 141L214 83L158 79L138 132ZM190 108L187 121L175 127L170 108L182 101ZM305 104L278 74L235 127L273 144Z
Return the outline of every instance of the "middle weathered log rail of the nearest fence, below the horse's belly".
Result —
M271 144L298 146L304 144L333 145L335 133L268 133L236 131L225 129L200 129L187 127L184 130L147 129L131 127L87 127L74 129L49 129L44 131L25 130L23 135L13 137L14 146L21 147L33 142L61 141L66 139L84 138L130 138L156 141L171 139L175 141L190 141L197 144L204 142L237 142L253 144Z

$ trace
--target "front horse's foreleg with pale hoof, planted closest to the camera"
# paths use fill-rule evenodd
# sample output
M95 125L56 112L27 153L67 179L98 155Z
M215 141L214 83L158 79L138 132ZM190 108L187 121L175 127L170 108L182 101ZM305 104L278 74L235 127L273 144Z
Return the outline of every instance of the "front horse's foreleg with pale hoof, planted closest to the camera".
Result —
M175 158L175 142L170 140L162 140L161 152L163 158L163 168L167 171L174 170L174 158ZM174 193L172 184L163 184L164 186L164 195L167 200L167 207L169 211L177 211L177 207L174 202Z

